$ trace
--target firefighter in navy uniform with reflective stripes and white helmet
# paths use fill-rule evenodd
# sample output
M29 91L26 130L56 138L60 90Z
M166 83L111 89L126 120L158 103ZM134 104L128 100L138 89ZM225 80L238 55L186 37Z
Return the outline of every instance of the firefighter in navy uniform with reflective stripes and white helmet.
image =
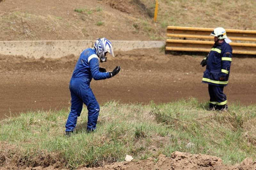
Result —
M231 42L224 28L215 28L211 35L214 36L215 44L207 57L201 62L204 71L203 83L208 83L210 95L210 110L227 110L227 97L223 93L224 87L228 85L230 65L232 61Z

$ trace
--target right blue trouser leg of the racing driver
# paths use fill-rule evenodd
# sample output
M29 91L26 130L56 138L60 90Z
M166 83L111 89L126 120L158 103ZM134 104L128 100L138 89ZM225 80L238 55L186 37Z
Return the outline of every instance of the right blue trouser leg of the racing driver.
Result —
M96 124L100 113L99 103L97 102L90 87L87 87L86 93L83 95L82 99L88 110L87 131L94 131L96 129Z

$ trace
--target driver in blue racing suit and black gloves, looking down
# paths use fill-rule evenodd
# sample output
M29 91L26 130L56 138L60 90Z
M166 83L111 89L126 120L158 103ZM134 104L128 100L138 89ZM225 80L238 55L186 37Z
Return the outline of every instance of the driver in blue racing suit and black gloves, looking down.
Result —
M90 82L111 78L119 73L121 67L117 66L112 72L107 72L105 68L99 67L100 63L107 61L106 54L114 56L111 42L106 39L98 39L94 47L85 49L77 60L76 67L72 74L69 90L71 94L71 109L66 123L66 136L70 136L76 127L77 117L80 116L83 103L87 106L88 122L87 131L96 129L100 106L97 102Z

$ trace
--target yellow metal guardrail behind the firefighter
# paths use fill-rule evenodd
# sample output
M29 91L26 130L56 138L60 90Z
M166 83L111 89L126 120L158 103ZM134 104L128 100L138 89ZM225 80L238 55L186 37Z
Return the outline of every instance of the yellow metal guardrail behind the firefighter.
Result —
M168 26L166 51L209 52L214 44L210 36L214 28ZM235 54L256 55L256 31L226 29ZM212 39L212 41L209 41ZM254 42L253 42L254 41ZM249 43L248 43L249 42Z

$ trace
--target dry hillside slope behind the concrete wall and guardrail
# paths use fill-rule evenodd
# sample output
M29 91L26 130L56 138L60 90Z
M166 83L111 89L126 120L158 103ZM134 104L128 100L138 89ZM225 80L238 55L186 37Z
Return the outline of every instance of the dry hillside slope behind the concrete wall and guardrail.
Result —
M167 25L256 29L256 1L5 0L0 40L164 40ZM45 5L47 4L47 5Z

